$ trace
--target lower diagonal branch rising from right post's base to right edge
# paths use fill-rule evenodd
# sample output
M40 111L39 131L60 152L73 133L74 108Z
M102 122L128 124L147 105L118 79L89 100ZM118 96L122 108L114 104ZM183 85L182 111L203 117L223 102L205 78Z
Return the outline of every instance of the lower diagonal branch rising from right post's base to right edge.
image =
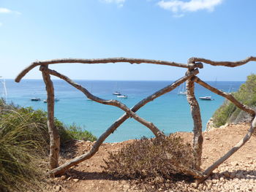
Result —
M217 169L217 167L220 164L222 164L224 161L227 160L227 158L230 158L231 155L233 155L238 149L240 149L250 139L250 137L252 137L252 133L255 131L255 129L256 129L256 118L254 117L251 123L251 128L249 128L244 138L241 139L240 142L238 142L238 144L232 147L224 156L222 156L222 158L219 158L219 160L217 160L216 162L214 162L214 164L209 166L208 169L206 169L206 171L203 172L205 177L208 177L211 174L211 172L214 171L214 169Z

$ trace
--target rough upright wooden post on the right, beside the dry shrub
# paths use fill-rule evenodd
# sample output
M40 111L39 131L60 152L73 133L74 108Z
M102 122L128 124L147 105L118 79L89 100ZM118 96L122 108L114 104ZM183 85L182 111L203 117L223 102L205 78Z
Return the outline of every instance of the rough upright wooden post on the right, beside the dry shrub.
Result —
M189 70L190 71L190 70ZM187 80L187 101L190 105L192 118L194 121L193 127L193 153L194 153L194 169L200 170L201 157L203 150L203 136L202 136L202 120L200 115L200 107L195 99L195 81L192 79Z

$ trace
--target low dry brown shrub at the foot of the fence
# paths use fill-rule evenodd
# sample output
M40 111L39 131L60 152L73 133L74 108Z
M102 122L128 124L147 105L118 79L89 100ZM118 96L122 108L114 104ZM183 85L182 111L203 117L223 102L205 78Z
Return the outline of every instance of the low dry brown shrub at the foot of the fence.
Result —
M184 175L190 177L187 173L192 170L192 147L173 135L143 138L125 145L117 153L110 153L105 164L105 172L114 177L139 179L165 188L169 181L184 179Z

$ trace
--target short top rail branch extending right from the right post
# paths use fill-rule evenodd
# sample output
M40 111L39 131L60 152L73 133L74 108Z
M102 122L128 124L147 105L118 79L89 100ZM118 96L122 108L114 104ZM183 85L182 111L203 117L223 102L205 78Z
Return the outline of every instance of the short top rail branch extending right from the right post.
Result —
M250 56L241 61L211 61L206 58L189 58L189 64L192 64L192 63L196 64L196 62L203 62L205 64L210 64L213 66L230 66L230 67L241 66L248 63L249 61L256 61L256 57Z

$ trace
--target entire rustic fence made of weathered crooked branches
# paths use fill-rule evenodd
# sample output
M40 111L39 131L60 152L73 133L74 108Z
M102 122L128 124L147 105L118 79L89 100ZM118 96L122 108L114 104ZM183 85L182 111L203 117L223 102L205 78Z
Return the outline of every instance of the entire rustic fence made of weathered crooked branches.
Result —
M199 73L199 69L203 68L203 63L210 64L213 66L236 67L236 66L244 65L249 61L256 61L256 57L251 56L242 61L234 61L234 62L211 61L205 58L189 58L187 64L178 64L176 62L170 62L170 61L149 60L149 59L140 59L140 58L99 58L99 59L62 58L62 59L54 59L54 60L48 60L48 61L35 61L31 65L26 67L26 69L24 69L22 72L20 72L20 74L18 74L18 77L16 77L15 81L20 82L20 80L31 69L34 69L35 66L40 66L39 70L42 72L42 78L45 82L45 88L48 95L48 99L47 99L48 130L50 134L50 169L51 169L49 173L53 176L64 174L64 172L67 169L69 169L71 166L75 166L76 164L79 164L81 161L85 161L86 159L91 158L91 156L97 153L100 145L102 145L105 139L111 133L113 133L113 131L115 131L116 128L118 128L118 126L121 125L121 123L124 123L124 121L127 120L128 118L134 118L139 123L148 127L156 137L165 137L162 131L159 131L157 126L154 126L154 123L148 122L147 120L140 118L140 116L137 115L136 112L140 110L140 108L146 105L148 102L153 101L154 99L164 95L165 93L173 91L173 89L175 89L178 85L181 85L183 82L187 81L187 101L190 105L192 118L194 121L194 126L193 126L193 133L194 133L193 153L194 154L193 155L195 158L195 164L193 165L193 169L197 170L194 176L199 180L204 180L206 179L206 177L208 177L208 175L211 174L211 172L214 171L214 169L216 169L220 164L222 164L225 160L227 160L227 158L233 155L233 153L235 153L236 150L242 147L249 140L249 138L252 136L252 132L255 131L255 128L256 128L256 118L255 118L256 112L251 107L241 104L230 93L225 93L223 91L219 91L217 88L211 87L211 85L208 85L206 82L203 82L203 80L200 80L200 78L198 78L196 75ZM162 88L159 91L151 94L145 99L139 101L138 104L135 104L134 107L129 109L129 107L127 107L125 104L121 103L120 101L112 100L112 99L105 100L97 96L94 96L86 88L83 88L83 86L78 85L78 83L70 80L69 77L48 68L50 64L64 64L64 63L106 64L106 63L124 63L124 62L130 63L130 64L159 64L159 65L166 65L166 66L176 66L176 67L187 68L187 72L184 75L184 77L181 77L180 79L176 80L172 84L167 85L165 88ZM59 146L60 146L59 131L54 126L54 88L53 88L53 82L50 80L50 75L53 75L53 76L59 77L62 80L65 80L66 82L69 83L69 85L72 85L73 87L77 88L79 91L82 91L87 98L93 101L96 101L101 104L113 105L124 111L124 115L118 118L99 137L99 139L97 139L97 142L94 143L94 145L91 147L91 150L88 153L85 153L76 158L73 158L71 161L68 161L67 163L62 164L61 166L59 166ZM225 155L223 155L222 158L219 158L219 160L217 160L214 164L209 166L208 169L206 169L203 172L201 172L200 170L201 155L202 155L202 149L203 149L202 120L200 115L200 107L197 102L197 99L195 98L195 93L194 93L195 82L207 88L208 90L214 93L217 93L219 96L225 97L226 99L233 102L233 104L235 104L236 107L252 115L251 128L249 128L249 131L244 136L244 138L242 138L237 145L232 147Z

